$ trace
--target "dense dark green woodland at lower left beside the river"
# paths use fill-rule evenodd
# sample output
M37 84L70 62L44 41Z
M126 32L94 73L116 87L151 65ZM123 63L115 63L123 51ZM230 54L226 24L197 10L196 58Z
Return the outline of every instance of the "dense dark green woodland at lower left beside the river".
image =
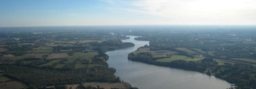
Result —
M1 65L0 67L5 70L5 76L36 87L78 84L90 81L116 81L114 76L115 69L106 66L94 66L92 68L66 71L17 65Z

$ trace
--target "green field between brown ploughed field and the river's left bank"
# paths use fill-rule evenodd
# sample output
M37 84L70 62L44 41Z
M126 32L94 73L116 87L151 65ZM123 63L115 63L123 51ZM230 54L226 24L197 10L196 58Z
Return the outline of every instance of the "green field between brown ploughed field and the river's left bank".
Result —
M97 51L91 51L91 52L74 52L73 55L69 55L67 58L68 59L78 59L79 57L81 57L82 59L91 59L94 57L94 55L98 55Z

